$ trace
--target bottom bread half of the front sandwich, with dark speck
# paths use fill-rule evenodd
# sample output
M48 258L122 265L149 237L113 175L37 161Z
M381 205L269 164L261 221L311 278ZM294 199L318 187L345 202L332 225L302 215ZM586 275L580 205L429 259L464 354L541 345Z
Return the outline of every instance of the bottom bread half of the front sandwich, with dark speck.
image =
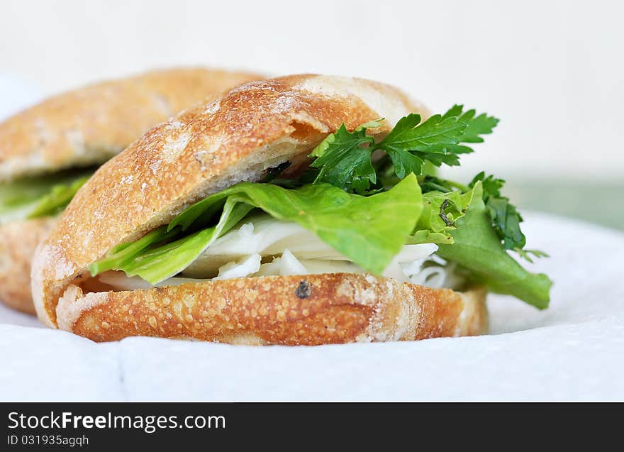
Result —
M128 336L247 345L414 341L487 331L485 292L352 273L270 276L82 294L69 286L60 329L93 341Z

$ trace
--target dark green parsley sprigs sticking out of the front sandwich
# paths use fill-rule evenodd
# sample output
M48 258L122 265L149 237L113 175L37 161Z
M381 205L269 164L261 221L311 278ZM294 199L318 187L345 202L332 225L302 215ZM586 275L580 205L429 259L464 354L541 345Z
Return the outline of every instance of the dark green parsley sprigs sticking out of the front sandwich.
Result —
M445 114L435 114L425 121L419 114L408 114L383 140L375 143L372 136L367 136L367 128L381 126L381 120L363 124L352 132L343 123L310 154L315 158L311 164L313 182L328 182L346 192L368 195L394 185L412 172L421 176L423 192L465 193L481 181L486 209L505 249L514 250L527 260L531 260L530 254L542 257L540 251L523 250L526 244L520 230L523 219L516 206L501 195L504 180L486 177L481 172L466 186L425 176L425 162L435 166L459 165L460 155L473 152L467 144L483 142L482 136L491 133L497 124L494 116L477 115L474 109L464 111L463 105L456 104ZM385 155L373 162L372 154L379 150Z

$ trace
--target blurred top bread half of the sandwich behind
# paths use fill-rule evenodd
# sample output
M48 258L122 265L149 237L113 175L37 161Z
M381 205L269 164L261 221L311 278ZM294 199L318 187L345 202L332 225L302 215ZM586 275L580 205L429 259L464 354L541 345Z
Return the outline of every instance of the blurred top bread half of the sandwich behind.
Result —
M104 162L178 111L259 78L178 68L51 97L0 123L0 181Z

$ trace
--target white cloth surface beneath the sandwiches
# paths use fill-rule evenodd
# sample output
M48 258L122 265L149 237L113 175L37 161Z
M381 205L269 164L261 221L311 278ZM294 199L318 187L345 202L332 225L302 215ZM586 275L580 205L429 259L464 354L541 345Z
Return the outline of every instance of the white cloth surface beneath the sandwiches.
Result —
M0 312L0 399L624 399L624 234L526 214L539 312L489 296L491 335L320 347L128 338L96 344Z

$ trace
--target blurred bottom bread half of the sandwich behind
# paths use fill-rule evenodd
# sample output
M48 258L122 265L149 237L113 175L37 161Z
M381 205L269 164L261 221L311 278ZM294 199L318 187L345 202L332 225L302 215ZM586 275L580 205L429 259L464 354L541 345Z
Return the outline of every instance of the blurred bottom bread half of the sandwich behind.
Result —
M35 248L48 236L56 218L0 224L0 301L35 314L30 295L30 262Z

